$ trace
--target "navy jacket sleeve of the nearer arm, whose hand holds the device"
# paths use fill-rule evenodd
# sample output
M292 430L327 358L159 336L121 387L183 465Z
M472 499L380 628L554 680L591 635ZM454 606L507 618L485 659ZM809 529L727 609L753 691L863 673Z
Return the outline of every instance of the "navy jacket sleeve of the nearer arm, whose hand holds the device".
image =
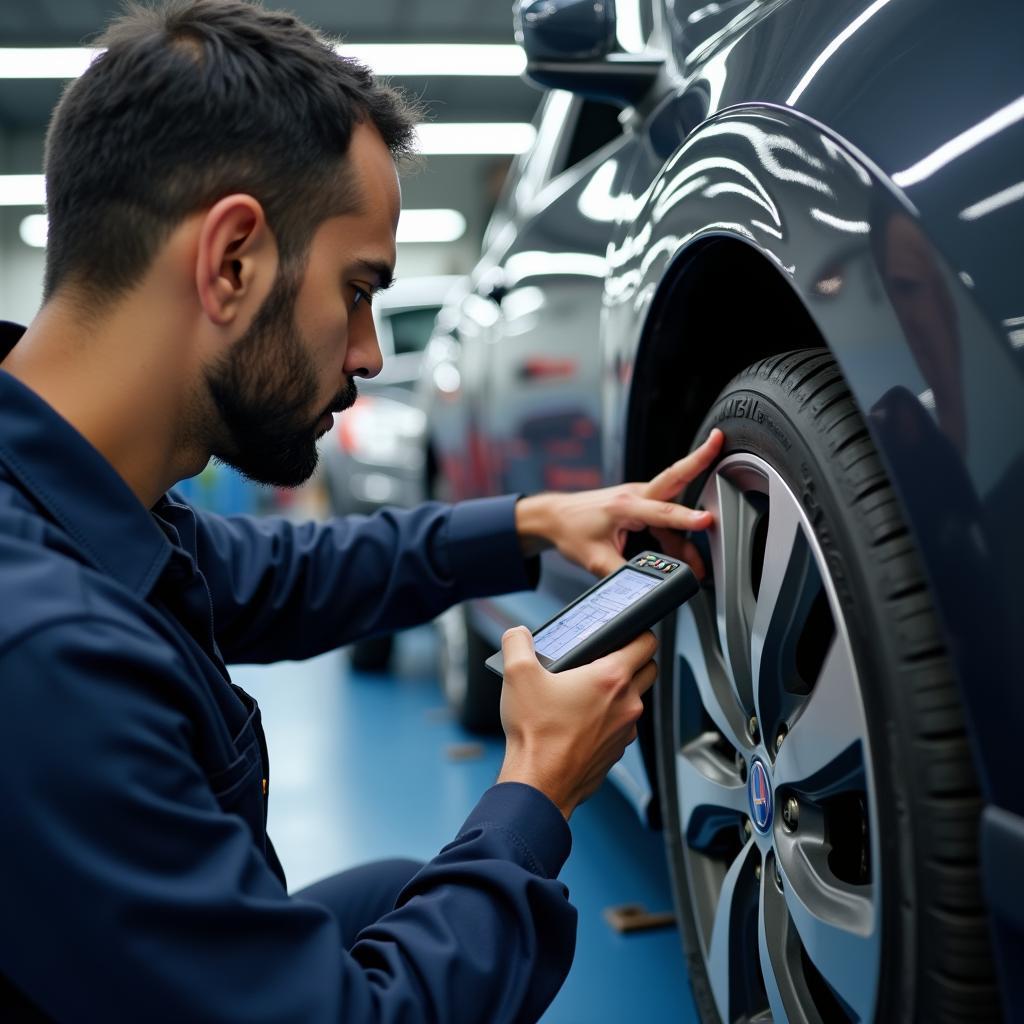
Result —
M0 975L54 1019L502 1024L537 1020L564 979L569 836L537 791L487 791L346 950L218 802L173 651L79 621L0 672Z

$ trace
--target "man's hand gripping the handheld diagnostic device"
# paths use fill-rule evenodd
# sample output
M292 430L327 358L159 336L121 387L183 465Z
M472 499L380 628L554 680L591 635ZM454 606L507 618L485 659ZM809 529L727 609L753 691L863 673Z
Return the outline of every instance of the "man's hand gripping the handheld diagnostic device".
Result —
M644 633L579 669L548 672L524 626L502 637L505 763L499 782L540 790L565 819L636 739L641 694L654 682L657 642Z

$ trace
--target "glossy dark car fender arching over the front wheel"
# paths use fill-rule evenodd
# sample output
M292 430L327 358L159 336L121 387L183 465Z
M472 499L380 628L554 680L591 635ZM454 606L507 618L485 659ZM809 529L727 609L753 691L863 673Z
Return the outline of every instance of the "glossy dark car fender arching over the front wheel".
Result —
M609 248L605 290L605 447L617 460L606 472L612 478L630 472L629 412L645 400L632 382L637 360L649 355L652 312L703 243L727 238L752 247L799 298L850 384L925 562L973 738L985 750L977 759L983 791L1020 813L1013 767L1024 694L1005 681L1024 664L1013 573L1024 403L1016 353L976 301L973 282L954 271L914 205L870 160L782 108L745 104L700 125L629 213ZM899 249L906 239L949 303L940 324L954 329L958 367L944 357L944 336L932 339L937 354L930 356L927 332L914 336L912 317L887 290L879 261L887 245ZM742 301L741 281L736 298ZM687 338L681 312L678 336L658 343L707 344ZM766 327L771 315L766 308ZM920 444L908 447L893 412L907 399L934 426L926 455L949 470L941 480L929 478Z

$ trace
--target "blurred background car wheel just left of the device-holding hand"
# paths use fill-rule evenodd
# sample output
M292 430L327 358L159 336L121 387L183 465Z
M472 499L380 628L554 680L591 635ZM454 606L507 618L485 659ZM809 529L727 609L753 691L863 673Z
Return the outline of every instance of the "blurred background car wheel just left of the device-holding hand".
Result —
M494 648L473 629L464 605L438 615L437 627L441 687L456 721L470 732L501 732L501 680L483 667Z

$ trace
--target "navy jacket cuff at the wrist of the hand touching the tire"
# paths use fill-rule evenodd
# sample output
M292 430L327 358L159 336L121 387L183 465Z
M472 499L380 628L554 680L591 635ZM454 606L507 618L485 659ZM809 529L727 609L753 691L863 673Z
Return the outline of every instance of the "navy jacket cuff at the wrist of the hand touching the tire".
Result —
M452 507L447 523L452 577L462 600L532 590L540 558L524 558L515 528L518 495L475 498Z

